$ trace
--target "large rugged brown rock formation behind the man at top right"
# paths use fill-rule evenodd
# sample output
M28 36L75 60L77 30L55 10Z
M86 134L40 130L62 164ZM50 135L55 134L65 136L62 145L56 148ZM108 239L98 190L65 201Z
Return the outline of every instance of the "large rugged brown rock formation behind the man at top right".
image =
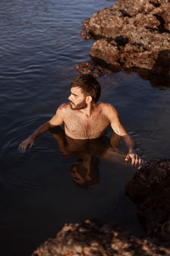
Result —
M90 51L94 63L170 75L169 0L118 0L85 20L81 34L100 37Z

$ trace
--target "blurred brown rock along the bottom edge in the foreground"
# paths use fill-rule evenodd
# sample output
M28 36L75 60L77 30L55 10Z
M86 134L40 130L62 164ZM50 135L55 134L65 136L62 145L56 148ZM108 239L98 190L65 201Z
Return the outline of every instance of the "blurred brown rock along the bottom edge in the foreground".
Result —
M160 256L170 250L132 236L129 231L102 220L65 225L32 256Z

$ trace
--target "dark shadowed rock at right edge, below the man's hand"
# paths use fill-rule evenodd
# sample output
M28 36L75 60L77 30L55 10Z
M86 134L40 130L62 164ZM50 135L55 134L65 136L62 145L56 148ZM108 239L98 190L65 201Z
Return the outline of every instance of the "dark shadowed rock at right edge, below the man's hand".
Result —
M125 186L146 238L170 248L170 159L146 162Z

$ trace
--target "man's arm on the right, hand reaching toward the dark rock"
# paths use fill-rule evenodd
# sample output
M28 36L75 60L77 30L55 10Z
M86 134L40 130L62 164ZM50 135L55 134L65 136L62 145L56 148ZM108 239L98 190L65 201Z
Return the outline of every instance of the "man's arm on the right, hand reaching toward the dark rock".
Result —
M136 146L135 146L135 140L132 136L128 134L124 126L121 124L121 121L119 119L119 114L117 110L109 104L109 118L110 118L110 125L113 129L113 131L124 138L124 141L128 147L129 153L126 155L125 161L129 161L129 159L132 159L131 165L138 166L143 164L143 159L141 159L137 153L135 152Z

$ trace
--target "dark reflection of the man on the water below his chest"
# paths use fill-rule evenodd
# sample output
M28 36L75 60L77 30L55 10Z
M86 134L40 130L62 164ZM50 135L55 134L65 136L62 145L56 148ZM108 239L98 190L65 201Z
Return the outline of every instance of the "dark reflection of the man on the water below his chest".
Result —
M113 153L121 140L121 137L115 133L111 138L104 134L96 139L72 139L65 135L60 126L51 128L50 132L57 140L64 159L78 157L77 162L71 165L71 175L77 186L86 189L100 182L97 155L108 157L107 153L110 151Z

